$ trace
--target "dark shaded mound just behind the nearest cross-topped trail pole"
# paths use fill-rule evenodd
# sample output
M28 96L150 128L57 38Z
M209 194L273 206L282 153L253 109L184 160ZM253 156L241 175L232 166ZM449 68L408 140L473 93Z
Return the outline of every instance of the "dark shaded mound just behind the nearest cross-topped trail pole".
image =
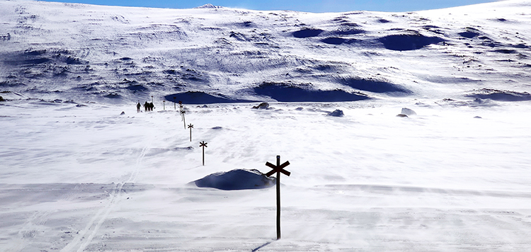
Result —
M205 178L193 181L200 188L219 190L246 190L270 188L276 184L275 178L268 178L256 169L234 169L227 172L212 173Z

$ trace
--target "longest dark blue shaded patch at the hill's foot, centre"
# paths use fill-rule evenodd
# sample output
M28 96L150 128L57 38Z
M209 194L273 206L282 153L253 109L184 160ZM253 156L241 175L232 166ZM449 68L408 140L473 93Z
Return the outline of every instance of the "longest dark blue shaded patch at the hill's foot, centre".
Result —
M261 96L269 96L281 102L339 102L360 101L369 99L364 93L349 93L340 89L314 90L309 84L282 84L263 82L253 88L253 91Z

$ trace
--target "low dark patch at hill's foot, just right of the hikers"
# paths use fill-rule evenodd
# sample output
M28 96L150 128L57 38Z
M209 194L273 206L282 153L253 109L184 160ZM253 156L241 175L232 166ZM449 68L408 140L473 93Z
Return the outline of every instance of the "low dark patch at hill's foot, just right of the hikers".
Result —
M164 96L166 101L178 102L185 104L211 104L211 103L252 103L256 101L239 100L224 96L220 93L205 93L201 91L188 91L183 93L173 93Z

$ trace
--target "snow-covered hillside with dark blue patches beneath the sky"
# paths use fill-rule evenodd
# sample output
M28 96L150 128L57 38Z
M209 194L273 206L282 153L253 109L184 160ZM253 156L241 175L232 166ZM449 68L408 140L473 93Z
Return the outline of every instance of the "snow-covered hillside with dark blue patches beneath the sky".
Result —
M300 13L0 2L0 91L122 103L529 99L531 1ZM488 81L487 81L488 79ZM484 89L485 88L485 89Z

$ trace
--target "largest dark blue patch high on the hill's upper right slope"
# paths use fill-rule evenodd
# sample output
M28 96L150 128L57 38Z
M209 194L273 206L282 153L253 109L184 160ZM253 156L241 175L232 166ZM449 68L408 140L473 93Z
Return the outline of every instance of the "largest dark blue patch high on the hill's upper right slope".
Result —
M437 44L445 40L439 37L427 37L416 31L410 31L409 33L404 34L387 35L379 38L378 41L381 42L386 49L408 51L418 50L426 47L426 45Z

